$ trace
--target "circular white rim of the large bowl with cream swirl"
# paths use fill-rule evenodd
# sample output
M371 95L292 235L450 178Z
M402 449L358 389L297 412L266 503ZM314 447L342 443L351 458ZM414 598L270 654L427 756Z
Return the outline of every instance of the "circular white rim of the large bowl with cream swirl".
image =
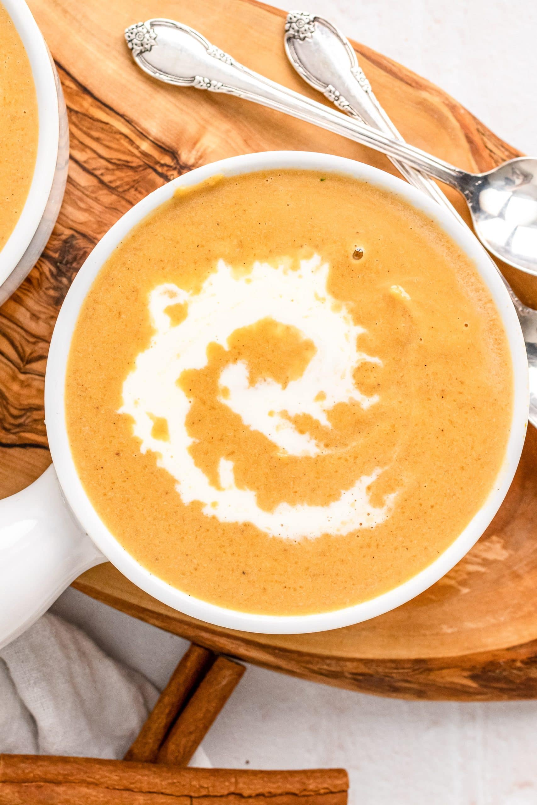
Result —
M78 312L102 264L122 238L148 213L169 199L178 187L198 184L210 176L240 175L270 168L302 168L351 175L402 196L441 225L475 262L493 295L506 328L514 369L514 407L506 458L494 487L481 509L455 541L432 564L399 587L361 604L308 615L259 615L210 604L172 587L149 572L114 538L97 512L76 473L69 448L64 415L64 386L68 350ZM76 518L97 547L128 579L164 604L209 624L262 634L304 634L332 630L366 621L410 601L447 573L477 542L498 511L509 489L522 452L529 407L527 353L516 312L501 276L489 255L469 229L422 192L403 180L365 163L309 151L266 151L223 159L196 168L158 188L139 201L101 238L70 287L52 335L45 379L45 414L48 440L56 473Z

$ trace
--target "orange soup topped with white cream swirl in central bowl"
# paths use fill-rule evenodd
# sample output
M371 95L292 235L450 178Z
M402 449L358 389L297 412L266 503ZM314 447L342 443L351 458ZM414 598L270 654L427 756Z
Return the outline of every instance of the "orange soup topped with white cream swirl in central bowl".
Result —
M102 267L68 438L97 513L214 604L339 609L426 568L506 452L506 333L469 258L399 196L261 171L188 188Z

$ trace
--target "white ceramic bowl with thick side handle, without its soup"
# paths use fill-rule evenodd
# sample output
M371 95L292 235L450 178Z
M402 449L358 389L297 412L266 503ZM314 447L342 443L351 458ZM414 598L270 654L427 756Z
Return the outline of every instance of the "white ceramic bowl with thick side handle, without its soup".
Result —
M101 522L81 485L69 448L64 415L66 364L81 303L101 266L130 229L171 198L178 187L197 184L215 174L238 175L286 167L335 171L365 180L403 196L416 208L435 217L473 259L489 287L506 328L514 366L513 419L504 464L489 497L455 542L428 568L390 592L346 609L291 617L236 612L200 601L171 587L138 564ZM527 356L518 318L498 271L470 230L458 224L444 208L409 184L369 165L324 154L274 151L225 159L180 176L138 202L105 234L76 276L60 310L48 357L45 412L57 478L51 468L34 485L0 502L0 520L6 522L7 543L11 539L13 545L9 556L6 552L0 556L0 642L22 631L78 573L105 558L159 601L200 621L246 632L314 632L365 621L404 604L444 576L479 539L509 489L523 448L528 414Z

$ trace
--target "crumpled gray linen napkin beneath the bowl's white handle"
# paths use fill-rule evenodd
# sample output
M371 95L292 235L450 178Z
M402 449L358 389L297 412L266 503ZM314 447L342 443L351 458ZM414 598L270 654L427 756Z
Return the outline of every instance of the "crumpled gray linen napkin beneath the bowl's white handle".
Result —
M0 650L0 752L122 758L158 695L47 613Z

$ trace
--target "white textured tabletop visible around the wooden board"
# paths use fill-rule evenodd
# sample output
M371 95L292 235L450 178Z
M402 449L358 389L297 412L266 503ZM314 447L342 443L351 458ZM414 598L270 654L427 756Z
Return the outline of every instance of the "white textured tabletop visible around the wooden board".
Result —
M300 10L426 76L537 154L535 0L312 0ZM74 590L53 609L161 687L186 647ZM345 766L351 805L537 803L537 702L383 700L250 667L204 749L213 766Z

